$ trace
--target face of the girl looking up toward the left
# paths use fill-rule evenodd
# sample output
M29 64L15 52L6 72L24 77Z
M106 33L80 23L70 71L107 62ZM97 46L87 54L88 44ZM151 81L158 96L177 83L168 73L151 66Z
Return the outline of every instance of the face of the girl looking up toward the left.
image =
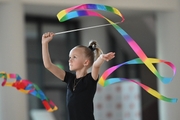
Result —
M69 53L69 69L77 71L84 67L86 61L83 48L73 48Z

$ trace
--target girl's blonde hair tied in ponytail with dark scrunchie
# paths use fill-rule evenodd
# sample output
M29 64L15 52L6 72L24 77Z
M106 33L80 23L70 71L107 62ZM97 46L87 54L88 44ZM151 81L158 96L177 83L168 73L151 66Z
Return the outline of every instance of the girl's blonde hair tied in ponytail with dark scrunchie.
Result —
M88 46L78 45L76 48L83 48L85 56L90 60L90 66L103 53L95 40L89 41Z

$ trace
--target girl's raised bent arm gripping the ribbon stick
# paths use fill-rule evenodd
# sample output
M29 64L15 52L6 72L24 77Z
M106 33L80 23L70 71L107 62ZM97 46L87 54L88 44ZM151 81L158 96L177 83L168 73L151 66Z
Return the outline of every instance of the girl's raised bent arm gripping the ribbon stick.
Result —
M49 55L48 43L53 39L53 37L54 33L51 32L45 33L42 36L43 64L45 68L48 69L51 73L53 73L56 77L58 77L60 80L64 80L65 71L53 64Z

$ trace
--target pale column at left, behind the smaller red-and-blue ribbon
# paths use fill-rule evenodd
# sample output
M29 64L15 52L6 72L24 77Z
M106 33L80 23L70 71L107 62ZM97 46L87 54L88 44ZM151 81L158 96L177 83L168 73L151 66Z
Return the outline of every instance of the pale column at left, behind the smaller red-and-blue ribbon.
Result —
M24 13L21 0L0 3L0 71L26 78ZM2 83L3 79L0 79ZM8 79L14 81L14 79ZM0 86L0 120L28 120L27 95Z

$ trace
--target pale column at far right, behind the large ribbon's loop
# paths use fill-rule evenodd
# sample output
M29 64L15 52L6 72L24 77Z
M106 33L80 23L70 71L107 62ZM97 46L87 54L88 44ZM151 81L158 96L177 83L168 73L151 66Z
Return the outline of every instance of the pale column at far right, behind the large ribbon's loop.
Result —
M180 1L178 9L157 14L157 57L171 61L177 73L170 84L158 83L159 92L168 97L180 98ZM164 76L172 75L166 65L158 65ZM175 104L159 101L159 120L179 120L180 101Z

